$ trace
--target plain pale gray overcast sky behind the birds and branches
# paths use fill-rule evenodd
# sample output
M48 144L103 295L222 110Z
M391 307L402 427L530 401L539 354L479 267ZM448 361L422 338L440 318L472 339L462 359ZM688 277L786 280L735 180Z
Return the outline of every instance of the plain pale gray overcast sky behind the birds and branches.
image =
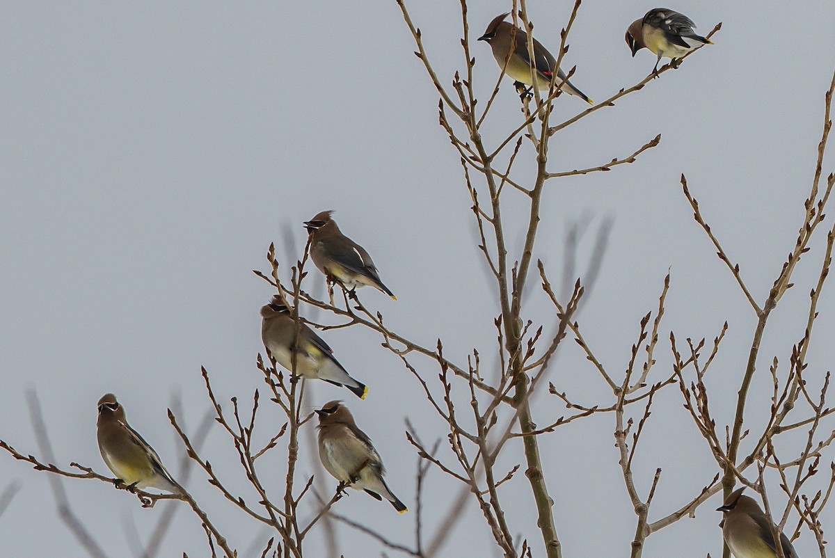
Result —
M448 84L463 68L458 3L408 5ZM564 68L577 64L573 81L579 89L602 100L645 77L655 57L644 50L630 58L624 33L654 7L584 3L564 58ZM670 268L655 379L671 371L671 330L682 341L711 339L727 320L730 330L710 386L714 416L725 424L732 418L755 317L692 221L679 176L687 175L706 219L762 301L802 221L823 94L835 64L833 8L821 1L804 3L798 12L792 3L752 0L689 0L671 8L690 16L703 33L723 22L716 45L554 137L550 168L571 170L629 155L655 134L663 136L634 165L549 184L535 256L557 283L569 228L589 227L579 243L583 270L595 230L614 220L598 282L579 315L586 340L612 373L625 369L640 317L657 307ZM473 3L472 38L508 9L508 3ZM555 51L569 12L569 3L529 3L534 35ZM24 453L37 452L23 397L33 387L58 463L74 460L106 473L95 442L95 403L112 391L134 428L175 469L181 449L165 408L179 395L185 422L195 428L208 408L201 365L227 401L261 388L255 367L256 353L263 353L258 308L271 288L251 270L266 271L271 241L280 253L289 243L296 252L282 267L286 279L303 247L301 222L326 209L337 210L342 230L371 252L397 294L393 302L370 289L361 293L390 327L429 345L442 338L448 356L459 363L472 347L483 355L493 350L497 307L476 248L471 200L458 155L437 124L437 92L412 54L396 3L7 3L0 48L0 438ZM473 41L472 48L484 103L498 67L486 44ZM584 108L576 98L557 101L565 117ZM506 79L483 129L488 145L519 119L519 99ZM527 180L533 168L527 145L520 156L526 159L518 165L519 176ZM516 251L522 210L509 197L505 216ZM777 356L787 366L792 344L802 337L824 236L820 231L798 269L797 287L769 322L750 424L767 413L768 363ZM321 278L311 277L321 288ZM530 287L537 292L527 315L553 325L549 304L538 287ZM815 390L832 368L832 302L827 286L807 359ZM397 358L379 347L379 338L358 328L326 333L337 358L370 393L359 402L344 390L317 384L307 403L313 408L346 398L375 440L392 490L411 505L417 458L402 435L402 419L411 418L425 440L443 436L443 424L429 413ZM431 363L415 363L426 378L436 376ZM549 380L579 402L611 403L574 342L560 351ZM717 471L676 388L656 404L635 459L642 494L655 468L663 469L650 520L689 500ZM540 424L564 413L545 394L535 408ZM280 419L272 409L264 413L265 441ZM613 430L614 418L601 416L540 439L566 556L628 554L635 516L620 478ZM315 470L304 436L302 442L301 483ZM219 429L207 448L230 485L245 490ZM518 447L509 450L508 469L519 455ZM271 463L276 474L269 487L277 496L280 451L262 464L266 478ZM437 470L429 479L431 535L453 485ZM57 520L46 475L0 456L0 490L15 480L22 490L0 518L4 554L52 555L60 548L62 555L84 555ZM135 525L145 540L159 516L159 507L141 510L132 496L104 483L64 484L74 510L109 555L134 555L124 525ZM327 490L333 485L328 477ZM200 475L190 488L216 510L220 529L242 552L254 540L269 538ZM776 484L770 489L777 494ZM505 485L504 493L514 508L514 533L539 543L524 475ZM715 500L695 519L652 535L645 556L720 555ZM413 514L398 516L359 493L342 500L337 511L412 544ZM599 511L604 529L590 525L590 515ZM824 525L831 527L833 517L830 508ZM346 529L339 534L346 556L377 555L377 544L365 535ZM470 505L444 555L492 547L483 536L489 536L483 520ZM315 539L310 555L318 549ZM812 555L813 543L804 532L797 551ZM207 552L199 522L181 510L162 555L184 550L193 556Z

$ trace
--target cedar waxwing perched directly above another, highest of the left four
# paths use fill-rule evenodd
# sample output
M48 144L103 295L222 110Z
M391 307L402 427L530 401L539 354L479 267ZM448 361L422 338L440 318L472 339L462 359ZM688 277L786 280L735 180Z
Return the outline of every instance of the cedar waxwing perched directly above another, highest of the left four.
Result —
M311 258L329 281L337 281L346 290L370 285L389 297L397 297L382 284L377 266L362 246L342 234L333 211L321 211L304 225L310 236Z

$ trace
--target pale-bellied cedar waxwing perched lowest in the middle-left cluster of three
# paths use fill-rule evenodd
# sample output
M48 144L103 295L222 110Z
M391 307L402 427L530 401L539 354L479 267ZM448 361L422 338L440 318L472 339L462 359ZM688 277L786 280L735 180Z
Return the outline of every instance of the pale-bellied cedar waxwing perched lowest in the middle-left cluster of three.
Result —
M397 513L408 511L389 490L382 475L380 454L371 439L357 428L354 417L340 401L326 403L316 409L319 415L319 459L327 472L354 490L365 490L377 500L385 498Z

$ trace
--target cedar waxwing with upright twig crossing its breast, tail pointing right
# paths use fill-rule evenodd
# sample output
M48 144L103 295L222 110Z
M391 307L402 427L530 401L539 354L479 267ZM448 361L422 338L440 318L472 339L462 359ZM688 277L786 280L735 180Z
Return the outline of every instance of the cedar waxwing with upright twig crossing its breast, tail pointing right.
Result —
M296 376L319 378L337 386L345 386L358 398L365 398L368 388L348 375L342 364L333 358L333 351L321 337L302 321L298 331L298 347L291 350L296 339L296 322L281 297L273 296L261 307L261 339L276 363L293 372L293 353L296 354Z

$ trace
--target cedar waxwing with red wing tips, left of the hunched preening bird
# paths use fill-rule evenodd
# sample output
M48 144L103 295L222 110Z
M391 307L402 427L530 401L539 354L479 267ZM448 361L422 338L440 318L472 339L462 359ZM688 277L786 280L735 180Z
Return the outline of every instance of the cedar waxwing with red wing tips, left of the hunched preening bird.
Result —
M528 55L528 33L525 33L518 27L514 27L513 23L504 21L504 18L507 18L508 15L509 12L496 16L478 40L487 41L490 48L493 49L493 58L496 58L498 67L505 68L504 73L516 80L517 89L521 85L533 85L530 79L531 68L535 68L534 76L536 76L537 87L539 91L543 93L547 92L551 85L554 68L557 65L556 59L534 38L534 58L536 59L536 63L535 65L531 63ZM513 33L514 29L516 33ZM509 54L511 51L513 53ZM509 60L508 55L510 56ZM507 64L507 67L505 67L505 64ZM565 73L560 68L556 69L556 84L559 85L563 83ZM586 97L582 91L574 87L569 81L563 83L562 90L565 93L576 95L588 104L595 104L594 101Z

